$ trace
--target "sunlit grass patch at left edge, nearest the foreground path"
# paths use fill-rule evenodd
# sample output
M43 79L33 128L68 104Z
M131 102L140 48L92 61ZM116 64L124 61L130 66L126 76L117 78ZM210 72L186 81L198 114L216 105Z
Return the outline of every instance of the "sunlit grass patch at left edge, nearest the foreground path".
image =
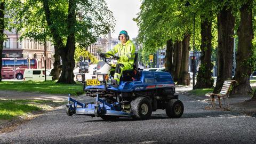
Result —
M51 100L1 100L0 119L10 120L27 113L43 110L46 105L61 105L61 102Z

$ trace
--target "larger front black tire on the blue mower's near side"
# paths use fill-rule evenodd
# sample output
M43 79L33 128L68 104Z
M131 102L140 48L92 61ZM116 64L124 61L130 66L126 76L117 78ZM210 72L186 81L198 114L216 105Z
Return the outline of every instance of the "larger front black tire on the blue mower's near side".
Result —
M148 98L137 97L131 102L131 114L134 119L149 119L152 114L152 105Z

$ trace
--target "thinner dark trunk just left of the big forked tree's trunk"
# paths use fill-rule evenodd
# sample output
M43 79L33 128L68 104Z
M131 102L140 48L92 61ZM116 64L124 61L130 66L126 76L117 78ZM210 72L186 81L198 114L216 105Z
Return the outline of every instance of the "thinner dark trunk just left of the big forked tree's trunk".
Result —
M53 63L53 69L51 70L51 76L52 80L59 79L62 65L60 63L60 54L58 51L58 47L54 45L54 63Z

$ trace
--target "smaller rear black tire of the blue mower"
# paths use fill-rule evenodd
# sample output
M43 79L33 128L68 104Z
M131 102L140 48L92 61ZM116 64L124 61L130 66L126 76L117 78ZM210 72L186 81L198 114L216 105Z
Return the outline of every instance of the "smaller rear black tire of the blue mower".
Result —
M180 118L183 114L184 106L180 100L171 99L165 108L166 115L171 118Z

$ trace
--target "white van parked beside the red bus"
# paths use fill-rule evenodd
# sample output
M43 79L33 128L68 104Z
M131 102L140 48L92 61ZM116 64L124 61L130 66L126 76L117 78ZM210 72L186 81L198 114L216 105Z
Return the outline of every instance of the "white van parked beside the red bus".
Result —
M23 77L24 81L44 81L44 69L25 69ZM46 70L46 80L52 80L49 70Z

